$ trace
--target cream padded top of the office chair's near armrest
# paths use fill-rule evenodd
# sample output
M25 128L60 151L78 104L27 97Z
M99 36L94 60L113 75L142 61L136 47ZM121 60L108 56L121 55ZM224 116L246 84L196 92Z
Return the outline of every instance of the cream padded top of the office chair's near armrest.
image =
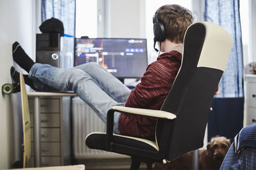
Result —
M175 119L176 115L170 113L168 111L162 110L148 110L148 109L140 109L140 108L128 108L123 106L113 106L113 110L120 111L124 113L131 113L135 115L147 116L147 117L156 117L156 118L167 118L167 119Z

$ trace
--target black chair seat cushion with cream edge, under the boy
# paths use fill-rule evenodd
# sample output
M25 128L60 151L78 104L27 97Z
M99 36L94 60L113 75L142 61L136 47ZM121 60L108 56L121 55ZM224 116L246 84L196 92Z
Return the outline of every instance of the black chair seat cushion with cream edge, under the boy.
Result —
M106 141L107 135L104 132L92 132L85 138L86 145L91 149L107 150ZM130 146L132 148L140 148L143 150L158 152L159 148L154 141L148 139L135 138L131 136L122 136L113 134L113 143L118 145Z

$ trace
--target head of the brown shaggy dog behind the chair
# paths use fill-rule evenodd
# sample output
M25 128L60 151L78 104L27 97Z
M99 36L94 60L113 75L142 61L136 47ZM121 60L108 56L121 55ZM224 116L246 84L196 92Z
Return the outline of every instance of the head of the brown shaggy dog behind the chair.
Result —
M213 160L220 160L222 162L230 145L229 139L223 136L215 136L208 143L207 152Z

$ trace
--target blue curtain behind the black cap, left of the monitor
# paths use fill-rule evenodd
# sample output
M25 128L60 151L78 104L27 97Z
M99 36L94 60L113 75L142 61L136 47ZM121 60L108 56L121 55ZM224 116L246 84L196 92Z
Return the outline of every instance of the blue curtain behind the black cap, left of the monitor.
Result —
M76 0L42 0L42 22L51 17L63 22L65 34L74 36Z

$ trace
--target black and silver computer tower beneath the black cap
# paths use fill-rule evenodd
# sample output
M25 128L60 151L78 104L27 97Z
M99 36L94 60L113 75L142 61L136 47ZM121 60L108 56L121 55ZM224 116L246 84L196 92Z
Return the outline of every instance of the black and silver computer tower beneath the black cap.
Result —
M36 62L69 68L74 63L74 38L59 33L36 34Z

